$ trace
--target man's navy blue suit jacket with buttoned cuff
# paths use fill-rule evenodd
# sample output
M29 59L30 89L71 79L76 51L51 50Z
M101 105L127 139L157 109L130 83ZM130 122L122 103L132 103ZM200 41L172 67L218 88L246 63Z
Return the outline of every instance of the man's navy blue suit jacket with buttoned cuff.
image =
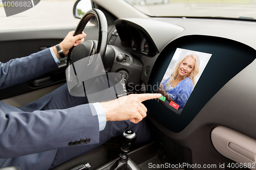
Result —
M49 48L28 57L0 62L0 89L57 68ZM48 100L40 102L44 105ZM69 147L70 141L83 136L91 139L89 144L99 142L98 117L91 104L25 112L0 102L0 167L23 162L22 169L48 169L58 148Z

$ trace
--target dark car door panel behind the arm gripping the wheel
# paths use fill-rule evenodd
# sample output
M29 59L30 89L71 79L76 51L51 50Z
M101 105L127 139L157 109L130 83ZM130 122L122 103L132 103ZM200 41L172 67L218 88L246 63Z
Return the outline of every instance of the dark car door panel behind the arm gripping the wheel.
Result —
M28 56L32 53L36 53L40 50L44 50L47 47L51 47L62 41L68 32L75 30L75 28L65 29L35 29L35 30L11 30L0 31L0 61L5 63L14 58L20 58ZM87 33L87 39L98 39L98 27L92 26L84 29ZM22 106L31 102L31 93L35 96L33 99L38 99L42 96L42 91L39 89L45 89L45 93L51 92L55 88L59 87L66 82L66 58L60 59L59 69L48 72L39 78L30 80L28 82L18 84L3 90L0 90L0 100L8 102L8 104L16 107ZM49 88L50 87L50 88ZM24 93L29 93L25 95ZM23 94L22 98L17 97L10 99L13 96ZM21 103L17 103L17 99ZM15 101L15 102L14 102Z

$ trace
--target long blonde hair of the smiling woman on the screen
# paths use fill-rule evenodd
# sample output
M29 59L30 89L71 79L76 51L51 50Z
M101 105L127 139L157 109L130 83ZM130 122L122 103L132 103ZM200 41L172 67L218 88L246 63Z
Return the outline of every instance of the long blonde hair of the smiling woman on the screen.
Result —
M198 72L199 72L200 60L199 60L198 55L196 55L196 54L188 54L183 59L181 59L180 62L174 68L174 70L173 70L173 72L172 72L172 74L170 76L169 81L166 83L166 86L165 86L166 89L167 89L167 87L169 85L172 85L174 83L174 80L177 78L177 75L178 75L178 70L179 70L180 64L187 57L192 57L193 59L195 59L196 60L196 64L195 64L195 67L193 68L193 70L191 72L189 72L188 75L184 76L183 79L186 79L187 77L189 77L190 80L193 83L193 88L195 87L195 85L196 85L196 76L198 75Z

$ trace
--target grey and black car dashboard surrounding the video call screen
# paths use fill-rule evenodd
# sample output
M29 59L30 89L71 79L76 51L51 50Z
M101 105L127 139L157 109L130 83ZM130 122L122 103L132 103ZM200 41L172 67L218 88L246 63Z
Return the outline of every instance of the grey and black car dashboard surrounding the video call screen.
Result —
M226 158L230 155L218 150L222 155L219 154L212 145L214 139L210 132L216 127L228 127L256 138L253 132L256 108L251 102L255 101L256 94L253 83L256 79L252 75L256 66L256 44L251 38L255 38L252 29L255 24L185 17L115 21L109 42L125 50L141 68L138 72L113 65L111 71L124 69L128 77L126 86L133 92L155 93L178 48L211 54L182 113L177 114L156 100L144 102L148 118L157 127L162 147L169 151L172 159L192 162L193 158L193 163L199 164L230 162ZM114 34L113 41L111 35ZM129 80L134 71L136 82ZM181 148L184 152L178 153Z

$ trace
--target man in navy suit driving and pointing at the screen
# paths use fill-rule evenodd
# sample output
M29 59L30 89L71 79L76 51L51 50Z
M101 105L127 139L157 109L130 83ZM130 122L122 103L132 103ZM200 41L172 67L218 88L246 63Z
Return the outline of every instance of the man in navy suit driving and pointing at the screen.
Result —
M64 55L86 37L84 33L73 34L69 32L57 45ZM0 62L0 89L57 69L59 58L53 46L28 57ZM145 121L141 121L147 109L141 102L160 96L132 94L89 104L86 97L70 95L65 84L20 108L0 102L0 167L51 169L89 152L128 128L142 141L148 136L144 135L147 131Z

